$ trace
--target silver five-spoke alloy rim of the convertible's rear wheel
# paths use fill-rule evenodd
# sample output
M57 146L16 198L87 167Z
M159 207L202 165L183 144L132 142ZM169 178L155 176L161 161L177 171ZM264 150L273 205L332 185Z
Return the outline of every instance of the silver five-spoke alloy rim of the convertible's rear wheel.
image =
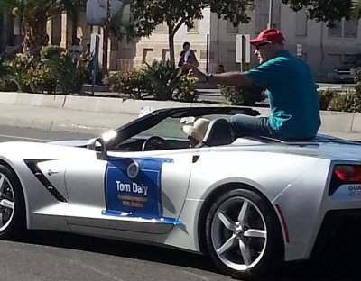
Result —
M211 222L211 240L219 260L236 271L255 267L267 245L264 215L249 199L227 198Z

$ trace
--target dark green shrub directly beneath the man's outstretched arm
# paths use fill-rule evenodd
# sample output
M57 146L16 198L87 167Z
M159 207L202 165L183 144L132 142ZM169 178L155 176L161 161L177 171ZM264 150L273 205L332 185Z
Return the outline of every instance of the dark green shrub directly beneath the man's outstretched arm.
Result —
M258 86L221 86L223 98L235 105L255 105L265 99L263 88Z

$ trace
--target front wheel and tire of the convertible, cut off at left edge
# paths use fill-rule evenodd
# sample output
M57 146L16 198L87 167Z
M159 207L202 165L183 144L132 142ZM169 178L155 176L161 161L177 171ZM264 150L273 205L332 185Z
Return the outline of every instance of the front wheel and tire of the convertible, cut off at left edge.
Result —
M0 239L21 237L25 231L25 203L23 199L23 188L14 172L3 165L0 165L0 179L4 177L5 192L1 194L0 201L9 199L14 202L13 214L0 206L2 221L0 222ZM0 186L1 187L1 186ZM11 190L10 190L11 188ZM7 224L7 225L6 225Z

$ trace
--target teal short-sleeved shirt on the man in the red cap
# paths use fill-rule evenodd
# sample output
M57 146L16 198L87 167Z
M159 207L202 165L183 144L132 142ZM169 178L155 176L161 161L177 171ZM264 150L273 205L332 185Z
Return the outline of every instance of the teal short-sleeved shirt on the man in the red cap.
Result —
M283 140L307 140L319 131L319 97L309 66L282 50L273 59L245 72L266 89L270 127Z

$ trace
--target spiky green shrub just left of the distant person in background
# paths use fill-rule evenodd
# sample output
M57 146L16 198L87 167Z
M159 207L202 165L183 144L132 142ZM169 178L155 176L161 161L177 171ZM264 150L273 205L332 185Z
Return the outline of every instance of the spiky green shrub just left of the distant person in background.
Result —
M174 90L180 85L178 71L171 61L156 61L146 64L144 77L149 81L147 92L153 93L154 99L159 101L171 100Z

